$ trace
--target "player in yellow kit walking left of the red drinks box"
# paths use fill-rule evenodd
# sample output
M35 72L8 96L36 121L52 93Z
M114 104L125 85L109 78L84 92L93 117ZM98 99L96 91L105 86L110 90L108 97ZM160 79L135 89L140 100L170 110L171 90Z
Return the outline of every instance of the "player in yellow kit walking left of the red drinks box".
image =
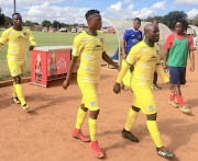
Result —
M26 43L28 41L31 43L29 50L32 50L36 44L32 32L29 28L22 27L22 16L20 13L12 14L12 22L13 27L6 30L1 35L0 48L8 42L8 66L14 79L12 101L16 104L21 103L23 110L28 111L30 107L24 100L21 74L24 73L26 66Z

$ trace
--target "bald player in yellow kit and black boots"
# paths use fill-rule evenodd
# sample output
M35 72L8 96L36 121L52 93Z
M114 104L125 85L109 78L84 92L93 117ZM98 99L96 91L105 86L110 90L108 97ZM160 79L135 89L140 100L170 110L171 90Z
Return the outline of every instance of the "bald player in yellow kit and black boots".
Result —
M157 153L165 158L173 158L175 154L168 151L162 143L156 124L157 108L152 93L153 73L156 71L172 90L173 85L169 83L169 79L166 77L156 53L158 46L155 42L158 42L160 38L158 27L155 24L147 24L144 27L144 35L145 39L131 48L113 88L113 91L117 94L120 93L121 80L130 66L133 65L134 72L131 81L131 87L134 92L133 105L129 111L122 135L132 141L139 141L130 130L135 123L139 111L142 110L142 112L147 116L147 128L156 145Z

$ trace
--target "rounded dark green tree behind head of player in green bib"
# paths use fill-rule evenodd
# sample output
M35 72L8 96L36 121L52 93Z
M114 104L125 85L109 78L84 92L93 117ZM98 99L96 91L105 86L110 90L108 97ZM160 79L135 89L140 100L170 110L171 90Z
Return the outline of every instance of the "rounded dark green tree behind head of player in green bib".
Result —
M163 23L167 25L170 30L173 30L175 26L176 20L179 19L187 19L187 14L184 11L172 11L168 14L164 15Z

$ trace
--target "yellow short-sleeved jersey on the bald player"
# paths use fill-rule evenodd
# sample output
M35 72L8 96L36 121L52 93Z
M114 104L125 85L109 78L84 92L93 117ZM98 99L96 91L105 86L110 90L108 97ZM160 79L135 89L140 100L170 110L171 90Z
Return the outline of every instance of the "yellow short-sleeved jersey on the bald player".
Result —
M134 66L132 85L153 84L153 74L156 70L156 65L161 64L160 56L156 53L158 49L157 44L151 47L144 41L131 48L125 62Z

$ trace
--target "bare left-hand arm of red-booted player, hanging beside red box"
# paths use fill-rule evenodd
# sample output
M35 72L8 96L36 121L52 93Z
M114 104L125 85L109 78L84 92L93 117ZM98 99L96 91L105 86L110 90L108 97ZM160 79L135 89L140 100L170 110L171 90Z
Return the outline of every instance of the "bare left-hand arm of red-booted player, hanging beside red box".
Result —
M73 69L74 69L74 67L75 67L75 65L77 62L77 59L78 59L78 57L72 57L67 76L65 78L65 81L63 82L63 88L65 90L67 90L67 88L69 87L70 77L72 77L72 73L73 73Z

